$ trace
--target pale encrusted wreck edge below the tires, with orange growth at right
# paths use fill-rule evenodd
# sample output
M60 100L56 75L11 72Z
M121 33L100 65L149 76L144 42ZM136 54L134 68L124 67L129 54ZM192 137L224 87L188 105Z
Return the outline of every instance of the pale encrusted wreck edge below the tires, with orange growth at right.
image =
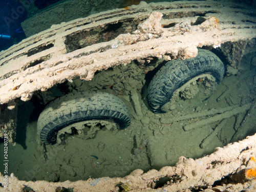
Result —
M13 174L8 176L6 191L23 191L27 186L34 191L54 192L62 188L73 191L255 191L255 176L250 174L256 167L256 135L243 141L216 148L209 156L194 160L180 157L176 166L164 166L159 171L152 169L146 173L136 169L123 178L103 177L76 182L26 182ZM154 189L156 181L166 179L161 187ZM169 180L168 180L169 179ZM2 175L0 182L5 185ZM228 184L232 183L232 184ZM164 185L164 186L163 186Z

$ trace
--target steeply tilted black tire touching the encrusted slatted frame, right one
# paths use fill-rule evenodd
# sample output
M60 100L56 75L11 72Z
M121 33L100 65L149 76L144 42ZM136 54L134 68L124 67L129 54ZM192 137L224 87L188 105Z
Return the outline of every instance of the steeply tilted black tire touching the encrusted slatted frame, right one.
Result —
M162 106L169 102L173 93L190 79L205 73L223 79L224 66L214 53L200 49L198 55L186 60L171 60L156 73L147 89L147 102L154 113L165 113Z

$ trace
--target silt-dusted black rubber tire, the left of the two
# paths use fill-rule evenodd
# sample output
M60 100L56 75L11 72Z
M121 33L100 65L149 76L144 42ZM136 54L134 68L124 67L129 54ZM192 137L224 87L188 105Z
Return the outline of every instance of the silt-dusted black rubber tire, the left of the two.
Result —
M103 92L82 92L62 96L49 103L37 121L37 132L43 143L55 144L64 127L85 120L114 120L119 129L130 125L131 115L118 97Z

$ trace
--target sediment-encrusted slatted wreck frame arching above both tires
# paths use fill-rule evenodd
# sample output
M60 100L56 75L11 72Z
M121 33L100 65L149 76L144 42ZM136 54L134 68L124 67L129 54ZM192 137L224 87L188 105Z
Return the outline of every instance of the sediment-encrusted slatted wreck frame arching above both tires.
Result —
M53 25L0 53L0 104L14 109L19 98L27 101L74 77L91 80L97 71L132 60L143 65L152 58L195 57L203 46L219 48L230 67L239 68L244 49L254 45L255 23L245 5L182 1L141 2ZM15 120L1 127L12 142Z

